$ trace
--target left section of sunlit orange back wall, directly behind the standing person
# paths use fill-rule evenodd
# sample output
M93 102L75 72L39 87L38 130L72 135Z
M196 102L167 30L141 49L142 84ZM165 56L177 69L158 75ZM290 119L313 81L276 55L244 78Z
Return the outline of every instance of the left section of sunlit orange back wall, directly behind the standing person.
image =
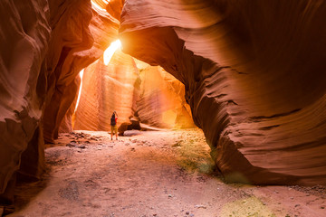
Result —
M139 91L138 82L135 61L123 52L115 52L107 66L102 59L92 63L82 78L74 129L110 131L110 116L114 110L119 115L118 125L129 123L136 102L134 95Z

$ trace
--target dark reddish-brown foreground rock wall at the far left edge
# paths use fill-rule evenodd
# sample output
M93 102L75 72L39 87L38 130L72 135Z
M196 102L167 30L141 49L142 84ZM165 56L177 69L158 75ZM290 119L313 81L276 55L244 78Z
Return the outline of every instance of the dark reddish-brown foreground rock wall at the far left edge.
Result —
M43 59L49 16L44 1L0 2L0 203L3 196L12 199L11 190L5 189L20 167L28 176L42 172L38 120L46 90Z

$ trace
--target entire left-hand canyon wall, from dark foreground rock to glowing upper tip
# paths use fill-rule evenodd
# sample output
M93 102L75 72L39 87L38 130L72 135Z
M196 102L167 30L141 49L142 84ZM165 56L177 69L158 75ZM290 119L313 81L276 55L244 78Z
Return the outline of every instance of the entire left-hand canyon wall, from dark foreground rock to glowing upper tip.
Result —
M58 136L76 75L118 37L120 22L90 0L4 0L0 12L0 203L11 203L16 172L40 177L43 139Z

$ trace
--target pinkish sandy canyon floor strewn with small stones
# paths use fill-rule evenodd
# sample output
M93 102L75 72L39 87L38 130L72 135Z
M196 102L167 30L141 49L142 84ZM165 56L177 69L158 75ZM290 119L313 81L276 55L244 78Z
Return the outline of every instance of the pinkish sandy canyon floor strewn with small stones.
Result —
M322 186L225 184L199 129L63 134L9 216L326 216Z

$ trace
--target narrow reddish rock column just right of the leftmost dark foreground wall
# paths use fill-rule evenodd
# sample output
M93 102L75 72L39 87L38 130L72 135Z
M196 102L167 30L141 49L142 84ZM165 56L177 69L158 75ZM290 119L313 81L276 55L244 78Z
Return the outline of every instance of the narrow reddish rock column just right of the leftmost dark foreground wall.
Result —
M51 20L53 37L47 56L52 77L43 122L44 139L53 142L62 118L75 98L77 86L73 81L82 70L81 52L91 47L93 38L88 27L92 15L89 1L61 1L61 4L50 1L49 4L55 14Z

